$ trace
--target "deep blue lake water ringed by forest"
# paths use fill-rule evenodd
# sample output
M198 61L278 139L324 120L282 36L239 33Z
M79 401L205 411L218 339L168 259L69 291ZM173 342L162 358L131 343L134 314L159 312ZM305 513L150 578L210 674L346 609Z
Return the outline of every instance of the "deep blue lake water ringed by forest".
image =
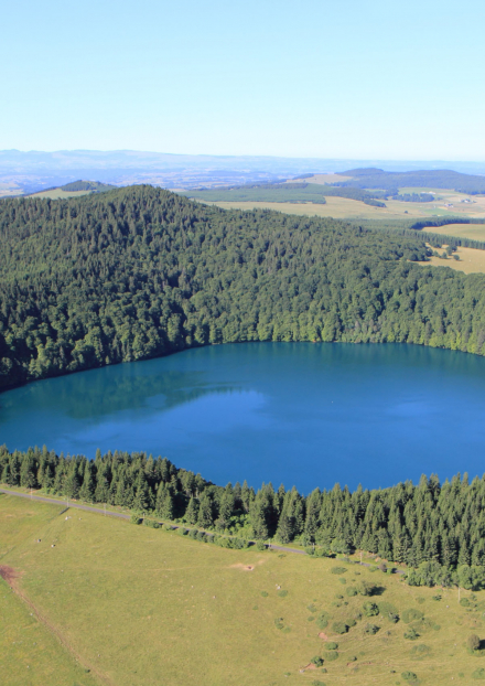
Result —
M0 395L0 442L144 450L225 485L308 493L485 471L485 358L413 345L247 343Z

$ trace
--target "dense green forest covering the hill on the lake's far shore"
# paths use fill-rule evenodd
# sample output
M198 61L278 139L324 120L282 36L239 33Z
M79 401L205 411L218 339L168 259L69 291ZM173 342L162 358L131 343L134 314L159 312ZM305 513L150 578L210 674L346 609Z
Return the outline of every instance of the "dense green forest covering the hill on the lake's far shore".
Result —
M485 354L485 277L412 264L402 234L152 186L2 201L0 387L239 341Z

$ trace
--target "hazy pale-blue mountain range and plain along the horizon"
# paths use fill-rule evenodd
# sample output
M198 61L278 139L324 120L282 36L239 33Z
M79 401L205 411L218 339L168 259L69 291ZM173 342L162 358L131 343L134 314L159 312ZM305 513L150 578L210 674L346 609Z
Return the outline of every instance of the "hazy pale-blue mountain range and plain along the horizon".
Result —
M274 182L311 172L376 167L387 172L446 169L485 175L485 162L191 156L134 150L1 150L0 192L3 195L33 193L79 178L115 185L151 183L166 189L217 187Z

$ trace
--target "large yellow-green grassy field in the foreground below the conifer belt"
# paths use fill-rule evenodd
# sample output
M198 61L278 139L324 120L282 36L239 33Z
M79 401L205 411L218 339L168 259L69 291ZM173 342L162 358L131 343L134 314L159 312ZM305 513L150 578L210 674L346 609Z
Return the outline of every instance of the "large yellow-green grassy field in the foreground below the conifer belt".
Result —
M2 586L3 686L90 686L95 678L117 686L406 686L403 672L431 686L472 683L472 673L485 666L464 645L471 633L482 634L482 605L462 607L456 590L408 587L398 575L341 560L227 550L97 514L58 512L0 496L8 538L0 564L14 570L19 590L65 646L53 639L46 660L36 653L34 660L32 626L39 635L46 630ZM336 567L346 571L334 574ZM378 594L347 592L362 580ZM463 596L473 605L485 601L485 592ZM369 600L381 612L360 619ZM406 623L405 611L412 609L424 617ZM385 617L389 610L399 612L398 623ZM326 626L319 625L322 612ZM353 618L348 633L336 633L334 622ZM375 635L367 624L378 628ZM410 626L419 633L416 641L403 637ZM328 641L338 644L335 660ZM74 676L69 652L91 672ZM309 667L313 656L324 658L321 668ZM24 658L31 661L30 682L19 680ZM44 663L55 677L46 677ZM31 673L35 665L39 673Z

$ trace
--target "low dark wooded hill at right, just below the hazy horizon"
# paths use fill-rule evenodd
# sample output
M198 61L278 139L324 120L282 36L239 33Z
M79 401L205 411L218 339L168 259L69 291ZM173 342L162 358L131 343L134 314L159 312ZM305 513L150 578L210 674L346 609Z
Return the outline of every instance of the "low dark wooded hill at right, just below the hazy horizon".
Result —
M477 195L485 193L485 176L463 174L450 169L422 170L408 172L388 172L382 169L364 168L337 172L351 180L335 185L354 189L452 189L460 193Z

